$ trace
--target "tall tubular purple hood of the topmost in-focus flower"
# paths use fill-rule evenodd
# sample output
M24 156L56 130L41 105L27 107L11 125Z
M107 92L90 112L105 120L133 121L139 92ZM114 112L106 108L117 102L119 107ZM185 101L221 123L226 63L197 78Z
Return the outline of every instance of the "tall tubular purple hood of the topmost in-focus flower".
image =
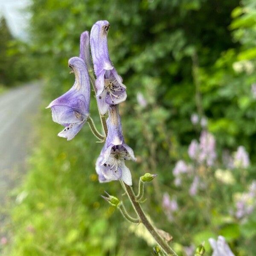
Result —
M90 47L93 58L94 71L97 77L103 69L113 69L113 65L108 55L108 29L108 21L99 20L93 25L90 32Z

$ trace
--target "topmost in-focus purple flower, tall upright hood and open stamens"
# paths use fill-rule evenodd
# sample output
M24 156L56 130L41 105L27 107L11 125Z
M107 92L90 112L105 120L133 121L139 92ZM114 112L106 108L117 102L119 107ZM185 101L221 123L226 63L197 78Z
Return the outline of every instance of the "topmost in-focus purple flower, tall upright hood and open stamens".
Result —
M93 66L97 77L96 97L102 115L108 111L109 105L124 102L127 97L122 78L117 74L108 55L109 27L107 20L100 20L93 25L90 33Z

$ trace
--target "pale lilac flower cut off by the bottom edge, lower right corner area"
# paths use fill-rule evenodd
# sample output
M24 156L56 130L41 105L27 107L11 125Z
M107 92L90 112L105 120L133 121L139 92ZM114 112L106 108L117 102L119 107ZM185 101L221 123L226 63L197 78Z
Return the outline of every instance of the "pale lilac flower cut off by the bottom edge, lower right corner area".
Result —
M209 243L213 250L212 256L235 256L234 253L230 250L230 247L226 243L223 236L218 236L217 241L213 238L210 238Z

